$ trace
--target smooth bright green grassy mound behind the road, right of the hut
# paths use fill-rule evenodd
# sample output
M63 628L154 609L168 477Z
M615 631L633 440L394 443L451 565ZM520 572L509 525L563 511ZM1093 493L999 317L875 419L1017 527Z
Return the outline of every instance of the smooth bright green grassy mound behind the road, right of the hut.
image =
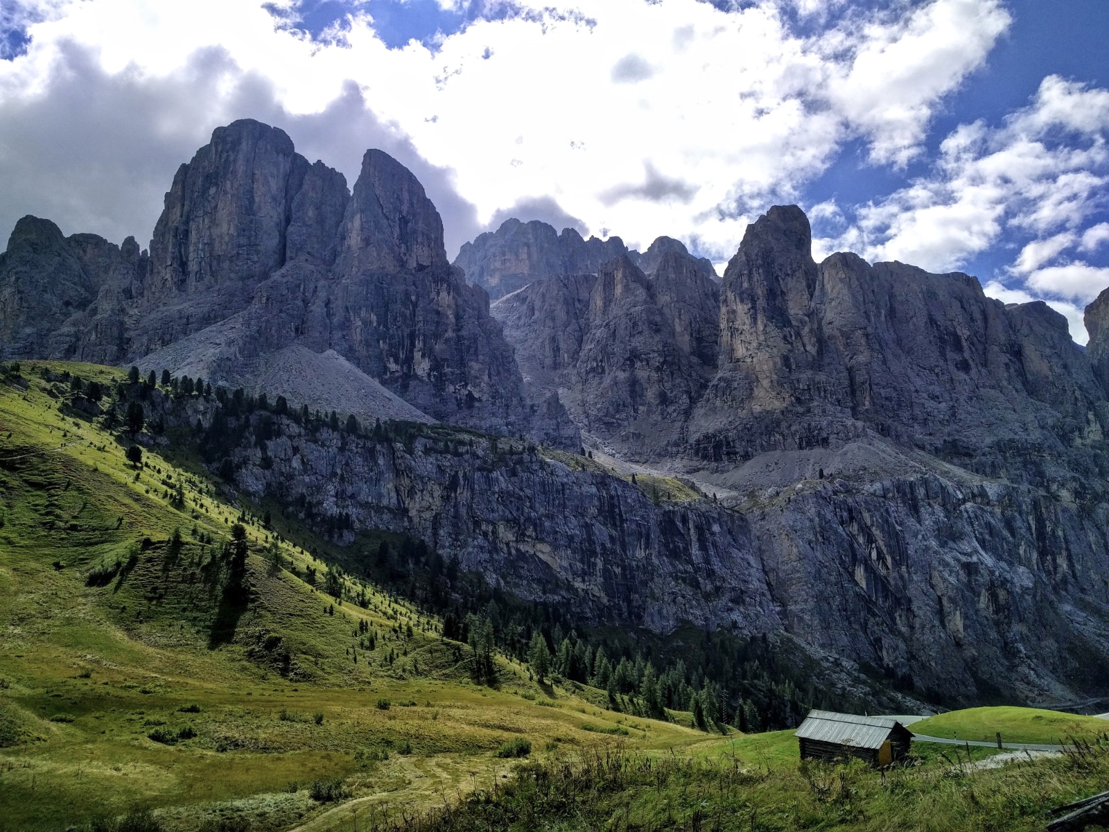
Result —
M928 737L986 742L994 742L1000 732L1003 742L1061 744L1068 738L1088 739L1109 732L1109 720L1039 708L968 708L914 722L909 730Z

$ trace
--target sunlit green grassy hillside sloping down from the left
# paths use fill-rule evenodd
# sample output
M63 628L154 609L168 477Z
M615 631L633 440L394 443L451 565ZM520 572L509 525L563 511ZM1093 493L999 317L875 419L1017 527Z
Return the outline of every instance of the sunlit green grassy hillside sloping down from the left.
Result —
M24 363L0 386L0 829L139 805L181 829L223 814L286 828L334 797L441 804L509 768L497 752L515 739L540 757L704 738L503 659L497 689L476 684L438 620L349 577L366 606L337 602L304 580L326 564L206 477L151 449L128 461L63 373L105 388L120 375Z

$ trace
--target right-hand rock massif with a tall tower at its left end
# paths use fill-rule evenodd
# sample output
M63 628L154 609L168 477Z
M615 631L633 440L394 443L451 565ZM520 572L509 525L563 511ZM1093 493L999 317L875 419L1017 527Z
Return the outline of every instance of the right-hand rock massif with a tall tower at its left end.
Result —
M1109 427L1089 359L1045 304L1006 307L967 275L852 254L816 266L808 246L795 209L749 229L724 276L720 364L690 426L692 457L730 464L878 435L999 470L1018 447L1061 453Z

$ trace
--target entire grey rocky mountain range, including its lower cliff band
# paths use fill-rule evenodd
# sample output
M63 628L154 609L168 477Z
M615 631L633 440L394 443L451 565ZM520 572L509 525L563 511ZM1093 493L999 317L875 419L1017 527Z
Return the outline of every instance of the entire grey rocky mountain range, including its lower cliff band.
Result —
M1109 290L1083 351L1044 303L811 244L771 207L721 281L669 237L510 220L451 264L387 154L348 190L238 121L145 251L21 220L0 357L468 428L386 450L285 425L226 458L246 495L348 518L337 539L413 534L598 623L784 633L929 701L1109 694Z

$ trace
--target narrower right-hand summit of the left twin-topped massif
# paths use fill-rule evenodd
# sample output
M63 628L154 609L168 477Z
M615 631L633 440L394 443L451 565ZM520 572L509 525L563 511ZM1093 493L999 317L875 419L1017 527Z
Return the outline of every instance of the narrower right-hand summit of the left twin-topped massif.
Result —
M368 272L448 266L442 220L411 171L368 150L339 230L339 261Z

